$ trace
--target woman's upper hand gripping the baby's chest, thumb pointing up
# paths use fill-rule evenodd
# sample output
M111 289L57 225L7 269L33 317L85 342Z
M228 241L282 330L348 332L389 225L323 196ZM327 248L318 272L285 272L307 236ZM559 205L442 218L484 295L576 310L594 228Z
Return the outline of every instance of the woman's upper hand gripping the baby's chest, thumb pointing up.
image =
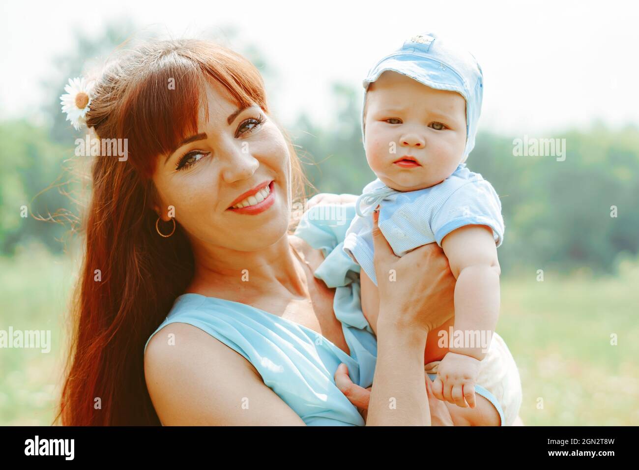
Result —
M396 256L373 212L375 274L380 295L380 325L421 330L427 334L454 315L455 278L443 250L431 243Z

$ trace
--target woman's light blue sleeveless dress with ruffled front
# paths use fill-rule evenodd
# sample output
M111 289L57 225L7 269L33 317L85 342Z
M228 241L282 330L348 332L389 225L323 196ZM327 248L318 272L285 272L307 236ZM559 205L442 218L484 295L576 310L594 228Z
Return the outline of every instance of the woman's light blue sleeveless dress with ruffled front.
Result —
M327 219L325 214L331 212L318 210L315 206L304 214L295 235L323 252L325 259L314 275L328 287L335 287L335 317L342 322L350 356L291 320L240 302L199 294L180 295L153 334L171 323L194 325L250 361L266 386L307 425L364 426L357 408L334 380L337 366L344 363L355 384L371 386L377 357L377 342L360 306L360 268L342 249L346 229L355 217L355 204L332 211L344 214L346 223Z

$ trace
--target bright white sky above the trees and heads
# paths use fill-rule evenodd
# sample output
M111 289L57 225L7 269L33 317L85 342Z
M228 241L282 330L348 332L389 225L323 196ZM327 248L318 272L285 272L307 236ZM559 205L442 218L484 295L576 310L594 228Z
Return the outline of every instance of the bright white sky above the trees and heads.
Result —
M105 10L108 5L109 9ZM0 6L0 118L34 116L52 56L107 20L162 25L173 36L235 27L278 72L273 111L291 123L330 116L330 83L361 90L371 65L427 29L467 45L484 72L480 130L544 131L639 123L639 6L624 1L115 1ZM231 43L239 47L241 44ZM63 93L63 90L60 90Z

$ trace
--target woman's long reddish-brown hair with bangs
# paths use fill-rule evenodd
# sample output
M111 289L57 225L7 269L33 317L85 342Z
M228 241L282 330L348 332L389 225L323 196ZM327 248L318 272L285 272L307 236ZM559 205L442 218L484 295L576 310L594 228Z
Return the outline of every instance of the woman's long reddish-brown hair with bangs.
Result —
M144 344L189 285L194 259L179 223L169 238L156 232L151 175L158 155L197 133L207 81L222 84L238 104L268 113L265 90L252 63L205 40L121 49L94 78L87 126L100 138L128 139L128 159L93 162L86 250L54 423L160 425L144 380ZM290 141L289 150L296 199L306 180Z

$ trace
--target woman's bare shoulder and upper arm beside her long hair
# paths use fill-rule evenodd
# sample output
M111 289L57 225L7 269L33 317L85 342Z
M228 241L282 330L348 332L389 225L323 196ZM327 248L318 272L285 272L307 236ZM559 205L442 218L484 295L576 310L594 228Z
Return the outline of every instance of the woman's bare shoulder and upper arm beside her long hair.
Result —
M305 425L249 361L193 325L169 324L151 338L144 376L165 426Z

